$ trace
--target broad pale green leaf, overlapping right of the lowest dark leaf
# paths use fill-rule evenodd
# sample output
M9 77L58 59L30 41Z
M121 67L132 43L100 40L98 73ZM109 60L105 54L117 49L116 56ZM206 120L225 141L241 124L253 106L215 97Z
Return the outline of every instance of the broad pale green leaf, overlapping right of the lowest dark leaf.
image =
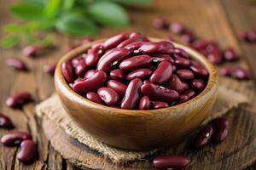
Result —
M126 26L129 23L124 8L108 1L91 4L88 13L92 19L106 26Z

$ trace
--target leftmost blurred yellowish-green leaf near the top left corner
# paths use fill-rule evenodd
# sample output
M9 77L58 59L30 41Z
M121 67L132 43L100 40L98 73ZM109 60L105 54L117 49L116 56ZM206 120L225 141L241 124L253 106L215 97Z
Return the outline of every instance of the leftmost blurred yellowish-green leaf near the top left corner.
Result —
M15 3L10 6L9 12L23 20L41 20L43 8L34 3Z

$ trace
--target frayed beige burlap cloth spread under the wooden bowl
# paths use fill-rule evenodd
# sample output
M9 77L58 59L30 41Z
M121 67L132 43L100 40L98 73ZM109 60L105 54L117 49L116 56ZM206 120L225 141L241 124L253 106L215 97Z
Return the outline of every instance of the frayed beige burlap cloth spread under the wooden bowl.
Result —
M207 120L202 124L211 121L215 117L224 115L241 103L247 102L248 99L243 94L237 93L231 89L219 87L216 104L213 106L210 116L208 116ZM92 150L98 151L103 156L107 156L115 163L139 160L157 151L157 149L148 151L121 150L109 146L108 144L102 144L102 142L91 137L90 134L82 131L72 122L72 120L67 116L66 111L62 108L60 100L56 94L53 94L49 99L46 99L37 105L36 112L39 117L47 116L49 120L63 128L71 137L78 139L80 143L87 145Z

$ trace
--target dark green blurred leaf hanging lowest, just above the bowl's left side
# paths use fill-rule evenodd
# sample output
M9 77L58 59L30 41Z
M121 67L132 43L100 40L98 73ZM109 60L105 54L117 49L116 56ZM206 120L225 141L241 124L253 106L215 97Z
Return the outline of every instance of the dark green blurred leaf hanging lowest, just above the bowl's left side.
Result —
M73 36L95 36L95 24L81 14L65 14L56 22L56 29Z

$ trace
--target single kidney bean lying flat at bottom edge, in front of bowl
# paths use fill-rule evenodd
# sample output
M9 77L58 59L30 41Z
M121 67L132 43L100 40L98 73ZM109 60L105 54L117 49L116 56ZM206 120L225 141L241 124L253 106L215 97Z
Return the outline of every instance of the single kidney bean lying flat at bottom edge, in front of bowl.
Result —
M189 165L189 158L185 156L158 156L153 160L155 168L182 168Z

